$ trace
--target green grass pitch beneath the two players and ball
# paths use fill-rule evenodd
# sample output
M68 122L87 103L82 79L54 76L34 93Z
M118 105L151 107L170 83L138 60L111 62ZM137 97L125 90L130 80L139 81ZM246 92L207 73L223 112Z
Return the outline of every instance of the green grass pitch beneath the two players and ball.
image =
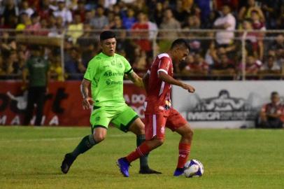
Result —
M284 188L284 130L194 130L190 159L205 172L187 179L172 176L179 137L169 130L149 157L163 174L140 175L136 161L122 177L115 161L134 150L135 137L111 128L62 174L64 154L87 134L87 127L0 127L0 188Z

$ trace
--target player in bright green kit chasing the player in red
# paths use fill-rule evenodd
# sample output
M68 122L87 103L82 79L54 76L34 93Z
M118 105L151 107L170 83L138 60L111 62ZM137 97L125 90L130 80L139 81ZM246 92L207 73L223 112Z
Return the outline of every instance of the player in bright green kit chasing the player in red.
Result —
M78 155L90 150L106 138L108 125L112 123L123 132L136 134L136 145L145 141L144 124L135 111L125 104L123 98L123 78L143 87L143 80L132 70L125 57L115 54L116 39L112 31L100 34L102 52L90 60L81 83L83 108L93 111L90 116L92 134L85 136L71 153L67 153L61 165L66 174ZM92 97L90 94L90 88ZM140 159L140 174L161 174L148 166L148 155Z

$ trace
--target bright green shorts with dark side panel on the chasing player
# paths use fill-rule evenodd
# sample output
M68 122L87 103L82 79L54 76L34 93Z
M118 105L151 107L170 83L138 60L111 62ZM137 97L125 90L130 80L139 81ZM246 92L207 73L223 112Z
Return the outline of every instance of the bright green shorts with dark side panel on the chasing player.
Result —
M123 132L128 132L129 126L139 118L137 113L127 106L110 107L110 106L94 106L90 117L90 123L92 125L92 133L96 127L104 127L108 129L110 123Z

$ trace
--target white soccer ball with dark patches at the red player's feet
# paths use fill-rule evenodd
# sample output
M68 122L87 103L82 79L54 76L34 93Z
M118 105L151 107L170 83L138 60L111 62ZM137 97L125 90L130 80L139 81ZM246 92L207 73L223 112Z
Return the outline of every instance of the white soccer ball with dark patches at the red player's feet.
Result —
M198 160L190 160L185 163L185 171L183 174L187 178L199 177L204 173L204 167Z

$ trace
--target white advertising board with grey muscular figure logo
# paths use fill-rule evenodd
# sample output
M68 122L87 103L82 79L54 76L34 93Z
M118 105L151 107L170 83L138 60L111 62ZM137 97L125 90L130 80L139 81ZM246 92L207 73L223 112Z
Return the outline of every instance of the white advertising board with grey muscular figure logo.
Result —
M189 93L173 86L173 108L195 128L254 127L262 105L277 91L284 99L281 80L185 81L195 87Z

